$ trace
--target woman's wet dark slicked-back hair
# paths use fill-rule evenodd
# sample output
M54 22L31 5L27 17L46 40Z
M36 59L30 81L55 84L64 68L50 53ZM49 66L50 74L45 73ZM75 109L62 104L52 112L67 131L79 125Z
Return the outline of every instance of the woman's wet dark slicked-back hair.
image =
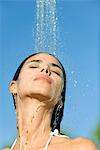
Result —
M54 55L52 54L49 54L49 53L34 53L32 55L29 55L28 57L26 57L22 62L21 64L19 65L18 69L16 70L15 74L14 74L14 77L13 77L13 80L16 81L19 77L19 74L20 74L20 71L24 65L24 63L32 56L35 56L37 54L48 54L48 55L51 55L53 56L54 58L56 58ZM62 121L62 117L63 117L63 110L64 110L64 102L65 102L65 93L66 93L66 73L65 73L65 69L63 67L63 65L61 64L61 62L58 60L58 58L56 58L57 61L60 63L61 67L62 67L62 72L63 72L63 80L64 80L64 87L63 87L63 90L62 90L62 93L61 93L61 100L63 102L63 105L59 105L59 104L56 104L55 107L54 107L54 110L53 110L53 113L52 113L52 119L51 119L51 128L52 128L52 131L54 131L55 129L58 129L59 132L60 132L60 123ZM15 109L16 109L16 102L15 102L15 97L14 95L13 96L13 101L14 101L14 106L15 106Z

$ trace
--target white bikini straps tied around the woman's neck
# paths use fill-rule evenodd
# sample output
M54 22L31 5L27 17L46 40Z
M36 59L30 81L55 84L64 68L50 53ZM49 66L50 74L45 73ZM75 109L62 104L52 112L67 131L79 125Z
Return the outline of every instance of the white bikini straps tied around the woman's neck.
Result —
M67 137L67 138L69 138L68 136L65 136L65 135L59 135L58 129L55 129L53 132L50 132L50 137L49 137L49 139L48 139L48 141L47 141L47 143L46 143L46 145L45 145L44 150L48 150L48 146L49 146L49 144L50 144L50 142L51 142L53 136ZM17 139L15 139L15 141L14 141L14 143L13 143L13 145L12 145L12 147L11 147L10 150L13 150L13 148L14 148L16 142L17 142Z

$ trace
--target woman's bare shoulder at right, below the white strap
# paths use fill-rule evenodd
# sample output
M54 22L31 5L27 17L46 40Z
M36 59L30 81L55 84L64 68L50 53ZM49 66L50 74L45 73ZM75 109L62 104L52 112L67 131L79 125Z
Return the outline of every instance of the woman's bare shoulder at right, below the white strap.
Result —
M58 150L98 150L96 144L88 138L68 139L58 137L56 140L57 145L55 146Z

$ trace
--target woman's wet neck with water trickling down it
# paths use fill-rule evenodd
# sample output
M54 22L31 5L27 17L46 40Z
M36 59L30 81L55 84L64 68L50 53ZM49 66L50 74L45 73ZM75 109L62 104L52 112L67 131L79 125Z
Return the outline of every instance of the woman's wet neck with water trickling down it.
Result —
M51 131L51 115L52 109L43 102L29 97L23 102L19 99L17 148L30 150L44 146Z

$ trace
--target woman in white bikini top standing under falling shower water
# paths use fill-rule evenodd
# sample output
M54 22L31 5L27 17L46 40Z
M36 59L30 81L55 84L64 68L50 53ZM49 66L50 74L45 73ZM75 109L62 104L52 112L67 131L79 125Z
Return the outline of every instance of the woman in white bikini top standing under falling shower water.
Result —
M60 135L66 75L47 53L27 57L10 84L17 112L18 135L11 150L97 150L85 138Z

